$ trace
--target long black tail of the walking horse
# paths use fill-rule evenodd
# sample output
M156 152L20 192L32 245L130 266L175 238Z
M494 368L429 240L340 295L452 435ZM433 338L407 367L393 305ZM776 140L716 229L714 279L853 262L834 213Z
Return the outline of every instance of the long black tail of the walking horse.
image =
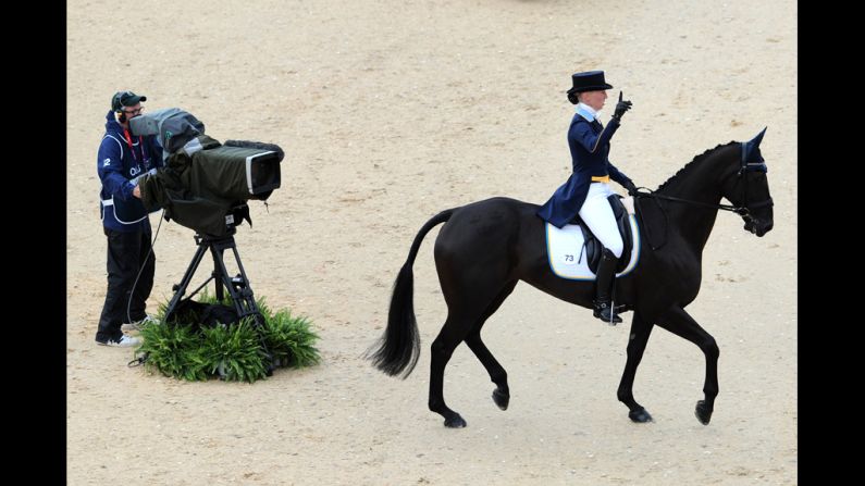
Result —
M435 225L446 222L454 214L455 209L442 211L424 224L411 249L399 275L394 282L394 292L391 296L391 309L387 311L387 329L379 340L379 348L368 354L375 367L391 376L403 373L403 378L411 374L420 357L420 335L418 321L415 317L415 274L411 266L418 257L423 237Z

